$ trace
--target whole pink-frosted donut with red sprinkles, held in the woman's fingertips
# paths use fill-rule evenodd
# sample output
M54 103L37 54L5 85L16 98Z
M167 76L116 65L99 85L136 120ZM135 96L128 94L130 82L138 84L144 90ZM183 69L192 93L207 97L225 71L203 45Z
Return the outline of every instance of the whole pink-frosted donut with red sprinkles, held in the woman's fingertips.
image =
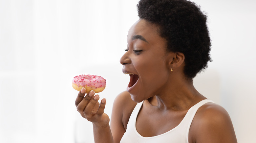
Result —
M84 87L86 89L86 93L89 93L91 90L98 93L105 89L106 80L98 75L81 74L73 78L72 87L78 91Z

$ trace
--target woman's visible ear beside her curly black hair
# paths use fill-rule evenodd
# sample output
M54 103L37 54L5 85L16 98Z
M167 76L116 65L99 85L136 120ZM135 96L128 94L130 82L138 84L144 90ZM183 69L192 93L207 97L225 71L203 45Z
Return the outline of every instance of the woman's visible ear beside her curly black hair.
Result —
M184 64L185 56L183 53L171 53L171 58L169 60L169 69L175 70L180 68Z

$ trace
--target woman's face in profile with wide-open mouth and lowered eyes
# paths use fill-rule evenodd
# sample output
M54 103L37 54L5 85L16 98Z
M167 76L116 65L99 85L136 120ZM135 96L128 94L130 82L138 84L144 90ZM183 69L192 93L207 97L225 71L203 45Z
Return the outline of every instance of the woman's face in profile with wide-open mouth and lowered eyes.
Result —
M129 29L120 63L123 73L130 75L127 91L133 101L141 102L166 88L170 73L166 46L158 27L146 20L137 21Z

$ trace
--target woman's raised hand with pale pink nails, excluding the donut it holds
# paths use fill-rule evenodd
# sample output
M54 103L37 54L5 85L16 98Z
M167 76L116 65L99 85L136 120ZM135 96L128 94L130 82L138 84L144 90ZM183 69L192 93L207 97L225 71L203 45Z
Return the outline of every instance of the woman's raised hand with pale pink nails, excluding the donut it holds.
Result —
M93 122L97 127L104 127L109 124L109 117L104 113L106 100L103 98L99 103L99 95L94 90L86 94L86 89L82 88L75 100L75 106L81 116Z

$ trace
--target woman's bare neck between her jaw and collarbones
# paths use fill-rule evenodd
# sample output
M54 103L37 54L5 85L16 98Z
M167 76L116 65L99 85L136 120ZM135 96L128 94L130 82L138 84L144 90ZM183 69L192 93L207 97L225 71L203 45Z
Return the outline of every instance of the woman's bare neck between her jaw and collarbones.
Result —
M162 88L161 92L149 99L160 110L186 110L194 103L206 99L194 87L192 80L173 80Z

